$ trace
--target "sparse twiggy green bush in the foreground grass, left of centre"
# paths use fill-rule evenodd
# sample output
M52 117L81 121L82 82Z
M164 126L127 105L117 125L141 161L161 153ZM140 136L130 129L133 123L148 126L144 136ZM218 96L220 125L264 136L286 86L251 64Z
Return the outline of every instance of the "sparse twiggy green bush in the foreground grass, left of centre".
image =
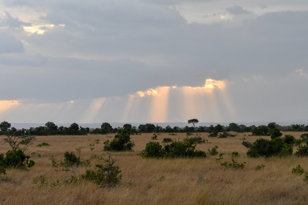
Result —
M99 187L114 187L119 184L122 179L120 167L114 165L115 160L110 155L105 162L106 165L96 164L94 170L86 170L84 175L80 175L80 179L91 181Z

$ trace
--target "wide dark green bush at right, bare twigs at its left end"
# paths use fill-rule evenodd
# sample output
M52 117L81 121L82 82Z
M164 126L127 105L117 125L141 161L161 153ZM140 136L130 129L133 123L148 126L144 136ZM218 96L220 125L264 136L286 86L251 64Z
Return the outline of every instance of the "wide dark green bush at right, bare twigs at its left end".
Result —
M242 144L248 144L243 141ZM284 143L281 137L275 139L257 139L252 144L249 144L248 157L271 157L271 156L286 156L292 155L293 147L290 144Z

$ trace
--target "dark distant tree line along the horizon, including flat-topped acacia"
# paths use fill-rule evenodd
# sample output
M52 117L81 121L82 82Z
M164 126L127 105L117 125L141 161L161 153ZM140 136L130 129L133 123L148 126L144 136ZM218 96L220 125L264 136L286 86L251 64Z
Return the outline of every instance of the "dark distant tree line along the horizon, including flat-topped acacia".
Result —
M0 123L0 135L5 135L5 132L12 131L12 132L18 132L21 135L87 135L87 134L109 134L109 133L121 133L122 130L126 130L128 134L134 135L138 133L178 133L178 132L184 132L184 133L192 133L192 132L208 132L208 133L218 133L218 132L228 132L228 131L234 131L234 132L252 132L252 135L271 135L274 128L279 129L281 131L308 131L308 125L287 125L287 126L280 126L276 123L269 123L266 125L261 125L256 127L255 125L252 126L245 126L243 124L238 125L236 123L229 123L229 126L224 125L210 125L207 126L199 126L195 127L195 123L198 123L199 121L197 119L188 120L188 123L193 123L193 127L170 127L169 125L165 128L154 125L151 123L147 124L141 124L138 127L132 126L131 124L124 124L123 127L115 127L112 128L112 126L109 123L103 123L100 128L89 128L89 127L81 127L77 123L72 123L69 127L58 127L53 122L47 122L45 126L39 126L39 127L30 127L29 129L19 129L17 130L14 127L11 127L11 124L3 121Z

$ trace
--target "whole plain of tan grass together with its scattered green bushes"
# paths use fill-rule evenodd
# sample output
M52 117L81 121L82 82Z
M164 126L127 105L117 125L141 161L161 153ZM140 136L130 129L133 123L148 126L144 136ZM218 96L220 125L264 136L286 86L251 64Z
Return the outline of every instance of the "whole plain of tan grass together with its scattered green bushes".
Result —
M125 132L37 136L24 151L34 166L4 166L0 204L305 204L304 133L228 132L224 138L219 138L224 132L217 137L159 133L155 139L153 133L128 136ZM172 141L162 143L167 138ZM247 146L261 138L261 147L267 147L263 151L274 150L274 154L248 157ZM117 146L121 140L128 146ZM148 148L159 150L157 156L144 155L149 143ZM112 150L111 144L122 151ZM172 146L180 152L171 155ZM6 143L0 153L11 149ZM251 152L255 150L250 147ZM199 155L188 155L195 151Z

